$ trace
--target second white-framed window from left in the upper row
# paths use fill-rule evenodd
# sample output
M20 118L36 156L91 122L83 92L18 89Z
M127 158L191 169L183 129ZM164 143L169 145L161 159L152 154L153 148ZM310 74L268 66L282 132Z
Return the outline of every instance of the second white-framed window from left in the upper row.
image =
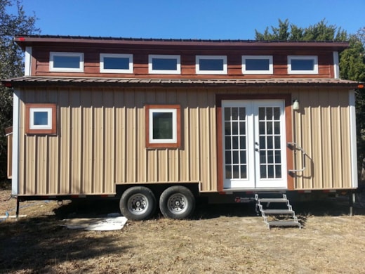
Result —
M100 72L133 73L133 54L100 53Z

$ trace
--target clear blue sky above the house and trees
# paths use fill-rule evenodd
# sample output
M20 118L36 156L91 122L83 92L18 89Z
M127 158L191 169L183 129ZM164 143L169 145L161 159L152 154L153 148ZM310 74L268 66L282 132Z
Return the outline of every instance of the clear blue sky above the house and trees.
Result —
M288 19L307 27L326 19L354 34L365 0L22 0L41 34L164 39L254 39Z

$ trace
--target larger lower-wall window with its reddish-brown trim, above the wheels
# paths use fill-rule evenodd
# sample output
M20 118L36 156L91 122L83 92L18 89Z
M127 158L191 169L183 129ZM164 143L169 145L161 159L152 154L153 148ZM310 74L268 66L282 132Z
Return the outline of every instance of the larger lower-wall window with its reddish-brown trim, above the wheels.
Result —
M180 105L146 105L146 147L180 148Z

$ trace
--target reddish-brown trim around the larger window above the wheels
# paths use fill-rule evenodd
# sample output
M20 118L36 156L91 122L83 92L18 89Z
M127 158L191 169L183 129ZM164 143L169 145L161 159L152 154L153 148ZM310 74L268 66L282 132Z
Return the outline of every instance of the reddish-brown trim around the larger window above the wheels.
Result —
M145 105L146 148L181 148L181 112L180 105ZM150 110L176 110L176 143L150 143Z

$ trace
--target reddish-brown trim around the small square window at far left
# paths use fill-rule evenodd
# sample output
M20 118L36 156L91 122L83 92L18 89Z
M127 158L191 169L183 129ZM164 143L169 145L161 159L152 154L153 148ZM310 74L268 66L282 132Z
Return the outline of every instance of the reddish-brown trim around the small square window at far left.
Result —
M30 129L30 110L37 108L51 108L52 126L51 129ZM27 134L56 134L57 133L57 107L55 104L30 103L25 104L25 133Z

